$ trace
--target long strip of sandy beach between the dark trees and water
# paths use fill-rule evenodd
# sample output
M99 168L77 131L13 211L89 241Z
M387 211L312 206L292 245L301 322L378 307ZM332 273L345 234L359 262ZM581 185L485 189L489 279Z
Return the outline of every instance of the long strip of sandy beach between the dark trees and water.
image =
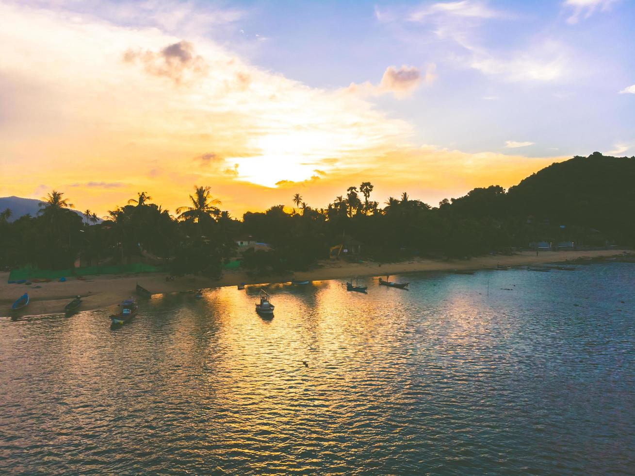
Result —
M8 284L9 273L0 273L0 316L11 316L11 304L24 292L29 293L29 307L19 316L30 315L64 315L64 306L75 296L82 296L83 303L79 312L105 309L116 306L124 299L135 294L135 285L139 283L152 294L168 294L173 292L189 292L195 289L214 289L236 286L241 282L247 285L267 285L290 282L291 279L325 281L351 278L352 276L385 276L420 271L479 271L502 266L526 266L530 264L547 264L566 262L581 257L606 258L614 257L626 249L595 251L545 251L536 256L534 252L519 252L511 256L486 255L469 260L435 260L411 259L410 261L377 263L377 262L344 262L323 261L318 268L311 271L292 273L289 275L267 276L263 278L248 276L244 271L225 271L220 280L211 280L202 276L184 276L174 281L166 281L166 273L140 273L138 275L86 276L85 280L70 278L66 282L33 283L30 286ZM40 286L36 289L36 286Z

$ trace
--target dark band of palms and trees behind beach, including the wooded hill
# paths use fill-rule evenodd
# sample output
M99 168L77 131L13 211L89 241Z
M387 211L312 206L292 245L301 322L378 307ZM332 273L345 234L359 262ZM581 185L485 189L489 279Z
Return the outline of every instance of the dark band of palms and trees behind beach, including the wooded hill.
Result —
M530 241L632 245L634 183L635 157L594 153L554 163L507 192L477 188L438 207L405 192L382 206L371 200L373 185L362 182L326 208L311 207L297 193L291 207L247 212L241 221L220 209L210 187L195 187L190 205L175 215L140 192L104 221L86 210L88 223L69 210L63 193L52 191L35 217L10 222L10 210L0 214L0 266L67 268L81 255L89 264L166 261L175 274L215 276L237 254L234 240L241 235L271 245L244 254L244 267L261 272L307 269L343 236L363 243L365 257L382 261L509 252Z

